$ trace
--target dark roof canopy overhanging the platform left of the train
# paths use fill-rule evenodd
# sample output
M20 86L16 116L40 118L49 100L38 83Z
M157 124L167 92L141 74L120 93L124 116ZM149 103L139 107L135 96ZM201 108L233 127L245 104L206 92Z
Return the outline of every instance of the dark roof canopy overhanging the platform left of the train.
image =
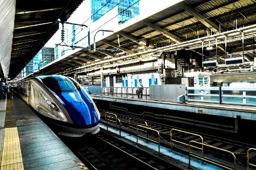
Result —
M5 29L1 29L0 37L9 32L13 37L1 39L0 46L9 42L12 45L0 49L0 76L3 78L3 72L9 72L9 78L15 78L59 29L59 24L55 21L60 19L65 22L81 2L82 0L16 0L16 4L15 1L1 2L0 6L5 10L1 10L0 24ZM13 17L14 24L10 23ZM10 23L10 26L6 23Z

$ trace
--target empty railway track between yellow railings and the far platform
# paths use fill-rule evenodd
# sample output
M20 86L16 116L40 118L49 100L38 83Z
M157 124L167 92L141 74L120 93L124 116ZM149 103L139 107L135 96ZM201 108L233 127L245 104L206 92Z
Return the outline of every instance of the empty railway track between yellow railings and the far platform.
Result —
M250 145L244 142L238 142L233 141L228 138L220 138L216 137L211 134L205 134L200 132L195 132L187 129L180 129L176 127L172 127L169 125L159 124L152 121L146 121L142 120L140 118L135 117L129 117L125 116L123 114L113 113L109 111L100 110L101 112L101 122L102 124L106 124L106 118L108 121L108 126L112 126L113 128L121 128L122 131L126 131L127 133L137 135L136 127L137 125L141 126L147 126L150 129L154 129L159 131L160 134L160 145L170 148L172 146L172 149L178 152L181 152L183 154L188 155L188 145L189 141L196 141L201 142L201 137L203 138L205 145L204 146L204 158L207 158L208 160L217 163L218 166L224 165L226 167L231 167L233 169L234 167L234 159L233 156L230 153L222 152L221 150L217 150L212 147L213 146L220 148L222 150L226 150L229 152L232 152L235 156L236 160L236 169L246 169L247 167L247 150L249 148L256 148L254 145ZM118 121L114 121L118 118ZM172 145L170 144L171 141L171 129L172 131ZM176 130L175 130L176 129ZM188 133L184 133L188 132ZM157 141L157 137L155 134L148 133L146 131L141 131L142 134L148 135L148 138L153 139L154 141ZM196 134L196 135L194 135ZM201 137L200 137L200 136ZM177 142L176 142L177 141ZM182 143L180 143L182 142ZM197 144L196 144L197 145ZM197 147L201 147L201 145L197 145ZM197 155L201 154L201 150L195 149L194 152ZM250 151L250 163L256 164L256 151L252 150ZM220 166L221 167L221 166ZM222 167L223 168L223 167ZM255 167L254 167L255 168ZM253 169L253 166L250 166L249 169Z

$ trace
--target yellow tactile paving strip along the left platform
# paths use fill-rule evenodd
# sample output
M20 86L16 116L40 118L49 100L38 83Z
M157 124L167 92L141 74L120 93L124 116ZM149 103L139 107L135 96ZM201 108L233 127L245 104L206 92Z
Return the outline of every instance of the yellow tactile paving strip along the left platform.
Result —
M13 102L7 99L5 129L3 131L2 154L0 155L0 169L24 169L19 144L18 130L13 112Z

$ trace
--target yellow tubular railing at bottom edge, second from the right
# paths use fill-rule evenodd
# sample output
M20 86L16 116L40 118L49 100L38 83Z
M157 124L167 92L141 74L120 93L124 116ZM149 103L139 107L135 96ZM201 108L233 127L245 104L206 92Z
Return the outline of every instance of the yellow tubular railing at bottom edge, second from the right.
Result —
M210 145L207 145L207 144L204 144L204 143L200 143L200 142L196 142L196 141L190 141L188 143L188 168L190 169L191 168L191 156L197 158L197 159L201 159L201 160L205 160L206 162L209 162L209 163L212 163L214 165L218 165L219 167L222 167L222 168L226 168L226 169L232 169L232 168L229 168L225 165L222 165L222 164L218 164L216 162L212 162L211 160L208 160L208 159L205 159L203 157L200 157L200 156L197 156L197 155L194 155L194 154L191 154L191 147L193 147L191 145L191 143L197 143L198 145L202 145L202 146L206 146L206 147L210 147L210 148L213 148L213 149L216 149L216 150L220 150L220 151L223 151L223 152L228 152L229 154L231 154L234 158L234 169L236 169L236 156L233 154L233 152L230 152L228 150L223 150L222 148L218 148L218 147L214 147L214 146L210 146Z

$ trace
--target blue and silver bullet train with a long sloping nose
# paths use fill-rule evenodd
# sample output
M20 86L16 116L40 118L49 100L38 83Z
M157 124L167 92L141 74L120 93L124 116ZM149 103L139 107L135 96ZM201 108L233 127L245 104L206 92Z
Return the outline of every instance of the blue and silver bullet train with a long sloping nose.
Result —
M35 76L18 83L19 96L67 137L100 131L100 112L76 80L63 75Z

